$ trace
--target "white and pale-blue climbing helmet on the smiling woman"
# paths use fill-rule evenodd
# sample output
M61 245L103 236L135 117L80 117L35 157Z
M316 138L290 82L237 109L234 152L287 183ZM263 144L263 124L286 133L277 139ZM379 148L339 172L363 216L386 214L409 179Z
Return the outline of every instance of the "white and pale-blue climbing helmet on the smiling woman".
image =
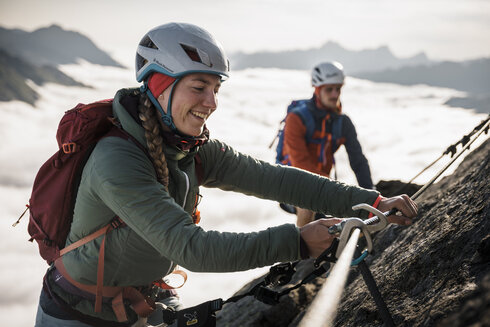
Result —
M136 50L136 80L158 72L179 78L189 73L228 77L229 68L221 45L206 30L192 24L169 23L150 30Z

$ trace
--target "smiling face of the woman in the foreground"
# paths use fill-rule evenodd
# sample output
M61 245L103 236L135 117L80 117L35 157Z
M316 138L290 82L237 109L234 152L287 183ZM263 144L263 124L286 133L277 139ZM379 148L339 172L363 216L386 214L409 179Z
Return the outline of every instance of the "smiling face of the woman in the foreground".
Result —
M199 136L208 117L218 106L218 90L221 79L217 75L196 73L184 76L175 86L172 95L172 120L177 130L185 135ZM168 87L158 97L167 112Z

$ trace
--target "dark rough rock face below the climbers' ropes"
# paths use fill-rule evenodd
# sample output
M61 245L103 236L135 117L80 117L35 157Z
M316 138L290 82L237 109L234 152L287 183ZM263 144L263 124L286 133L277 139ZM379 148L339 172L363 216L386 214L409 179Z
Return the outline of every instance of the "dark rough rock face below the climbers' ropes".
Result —
M375 254L366 262L397 326L490 326L489 163L487 140L417 199L419 216L412 226L391 225L376 235ZM289 286L313 268L311 261L298 266ZM324 281L317 278L277 305L250 296L227 304L218 326L297 326ZM383 326L355 268L335 326Z

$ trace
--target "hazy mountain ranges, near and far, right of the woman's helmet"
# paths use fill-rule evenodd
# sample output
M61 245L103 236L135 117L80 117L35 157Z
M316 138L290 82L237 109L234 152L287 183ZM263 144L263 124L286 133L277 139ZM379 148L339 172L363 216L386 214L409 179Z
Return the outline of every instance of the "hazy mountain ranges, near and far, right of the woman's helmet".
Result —
M230 58L234 70L253 67L310 70L322 61L335 60L344 66L347 75L373 82L426 84L468 92L465 97L453 97L445 104L490 112L490 58L439 62L430 60L424 53L397 58L386 46L351 51L331 41L320 48L237 52Z

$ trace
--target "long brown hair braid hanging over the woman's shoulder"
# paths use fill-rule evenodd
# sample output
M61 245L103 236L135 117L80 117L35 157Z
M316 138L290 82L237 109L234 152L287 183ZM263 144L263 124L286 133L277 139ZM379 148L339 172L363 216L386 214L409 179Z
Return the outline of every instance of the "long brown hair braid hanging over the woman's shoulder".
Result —
M168 190L168 167L163 153L163 138L160 134L160 123L150 99L144 93L140 95L139 117L145 129L145 138L150 156L157 173L157 179Z

